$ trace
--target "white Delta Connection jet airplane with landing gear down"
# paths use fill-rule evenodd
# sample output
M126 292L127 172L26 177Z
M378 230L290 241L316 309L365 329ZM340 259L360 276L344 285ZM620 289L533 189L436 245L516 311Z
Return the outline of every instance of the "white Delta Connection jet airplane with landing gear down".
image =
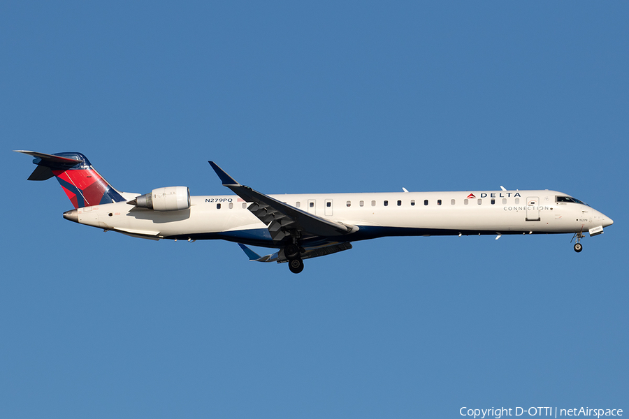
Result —
M572 233L574 251L584 233L600 235L614 221L558 191L507 190L265 195L236 182L213 161L223 186L236 196L191 196L186 186L150 193L117 191L78 152L33 156L28 180L55 176L74 205L64 218L105 231L150 240L227 240L250 260L288 263L352 249L352 242L386 236L531 235ZM248 246L277 249L260 256Z

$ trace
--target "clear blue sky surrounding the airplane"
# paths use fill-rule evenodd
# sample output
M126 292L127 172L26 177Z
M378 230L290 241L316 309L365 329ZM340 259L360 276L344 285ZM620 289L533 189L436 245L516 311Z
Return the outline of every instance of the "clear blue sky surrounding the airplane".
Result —
M629 6L570 2L0 5L7 418L418 418L629 409ZM228 242L62 219L13 149L117 189L555 189L569 235L359 242L305 271ZM526 416L526 415L525 415Z

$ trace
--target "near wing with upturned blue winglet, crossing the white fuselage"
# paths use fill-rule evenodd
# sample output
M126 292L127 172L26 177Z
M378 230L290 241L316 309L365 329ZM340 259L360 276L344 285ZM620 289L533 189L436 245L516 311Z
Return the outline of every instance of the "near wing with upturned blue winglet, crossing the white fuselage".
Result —
M213 161L208 162L223 182L223 186L236 193L247 203L247 207L260 221L266 224L273 242L282 242L291 235L335 237L353 233L358 230L356 226L349 226L338 221L324 219L320 216L309 214L291 205L282 203L275 198L254 191L249 186L236 182L222 168Z

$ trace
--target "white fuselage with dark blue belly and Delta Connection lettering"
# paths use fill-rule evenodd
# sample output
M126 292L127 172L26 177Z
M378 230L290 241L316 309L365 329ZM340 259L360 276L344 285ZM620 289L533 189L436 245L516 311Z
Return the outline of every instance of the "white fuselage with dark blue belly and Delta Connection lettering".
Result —
M133 194L125 194L133 195ZM579 233L612 220L565 193L458 191L272 195L288 205L358 229L352 242L388 235ZM150 239L224 239L277 247L238 196L192 196L187 210L159 212L111 203L78 208L79 223ZM306 238L306 240L308 240Z

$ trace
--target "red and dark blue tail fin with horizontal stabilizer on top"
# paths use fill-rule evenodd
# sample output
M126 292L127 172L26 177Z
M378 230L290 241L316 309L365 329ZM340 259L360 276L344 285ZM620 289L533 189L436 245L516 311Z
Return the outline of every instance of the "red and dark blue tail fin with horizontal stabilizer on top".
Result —
M46 180L57 177L59 184L75 208L91 207L126 201L113 189L99 172L92 168L87 157L80 153L43 154L15 150L34 156L37 165L28 180Z

